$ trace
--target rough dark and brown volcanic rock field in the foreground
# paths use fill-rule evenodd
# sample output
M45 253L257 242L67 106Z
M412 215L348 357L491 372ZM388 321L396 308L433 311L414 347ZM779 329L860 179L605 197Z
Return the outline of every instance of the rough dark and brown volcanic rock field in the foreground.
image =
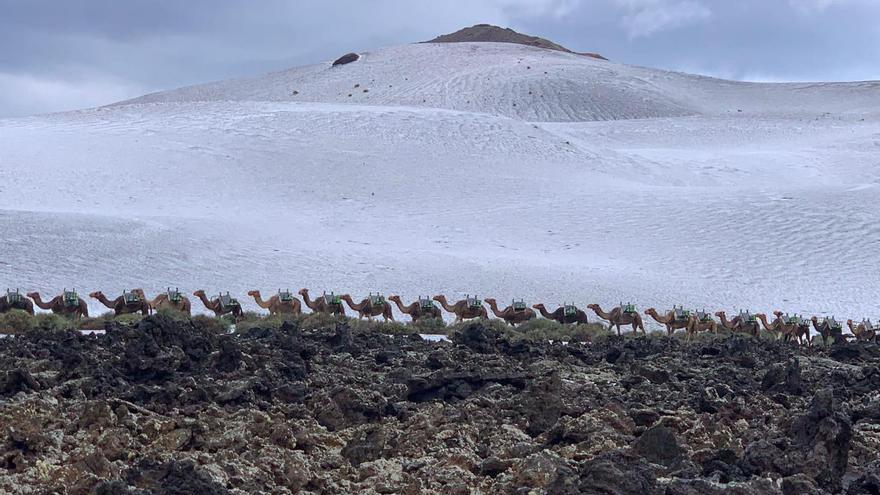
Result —
M0 339L0 493L880 493L880 349L165 315Z

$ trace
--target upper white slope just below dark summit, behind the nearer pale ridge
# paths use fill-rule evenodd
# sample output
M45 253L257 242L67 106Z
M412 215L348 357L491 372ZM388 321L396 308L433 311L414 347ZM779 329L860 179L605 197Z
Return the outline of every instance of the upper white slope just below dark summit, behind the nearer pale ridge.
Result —
M125 103L284 101L399 105L528 121L878 112L880 84L749 84L513 43L419 43Z

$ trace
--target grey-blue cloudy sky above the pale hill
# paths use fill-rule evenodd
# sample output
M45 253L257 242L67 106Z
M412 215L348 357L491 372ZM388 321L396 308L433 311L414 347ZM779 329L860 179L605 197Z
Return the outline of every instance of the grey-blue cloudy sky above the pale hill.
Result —
M880 79L880 0L0 0L0 118L333 60L478 23L749 81Z

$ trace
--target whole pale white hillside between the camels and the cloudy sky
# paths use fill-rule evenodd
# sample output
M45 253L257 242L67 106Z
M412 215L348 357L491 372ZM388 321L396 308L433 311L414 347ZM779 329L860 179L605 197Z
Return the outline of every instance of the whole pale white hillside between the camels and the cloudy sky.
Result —
M0 283L48 293L876 320L878 204L880 83L734 83L517 45L394 47L0 121Z

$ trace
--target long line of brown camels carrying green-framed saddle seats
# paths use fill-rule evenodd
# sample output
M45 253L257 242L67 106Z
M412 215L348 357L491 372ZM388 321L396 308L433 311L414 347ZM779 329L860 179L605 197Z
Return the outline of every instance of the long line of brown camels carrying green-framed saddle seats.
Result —
M313 313L341 316L346 315L347 306L357 314L358 319L373 320L381 317L386 322L395 321L393 306L396 306L401 314L409 316L413 322L425 319L442 319L444 311L451 314L456 323L465 320L488 319L491 311L492 315L510 326L521 325L534 320L539 315L544 319L563 325L590 323L587 312L573 303L563 303L551 312L544 304L529 306L524 299L514 299L509 305L501 308L498 301L493 298L481 299L469 294L454 303L450 303L444 295L418 296L418 299L410 304L404 304L398 295L390 295L386 298L380 293L370 293L358 302L355 302L349 294L334 292L329 294L324 292L315 299L311 298L308 289L300 289L297 294L302 298L302 301L289 289L278 289L268 299L263 299L259 290L247 293L257 306L269 312L269 316L300 315L303 313L303 304L305 304L305 307ZM204 290L197 290L192 295L201 301L206 310L214 313L217 317L229 315L235 320L244 315L241 303L229 292L225 294L220 292L209 298ZM149 299L142 289L123 290L122 294L115 299L109 299L101 291L92 292L89 297L111 309L114 315L133 313L148 315L161 309L172 309L187 315L192 314L192 304L189 298L177 288L171 289L169 287L165 292L157 294L152 299ZM22 294L18 289L15 291L7 289L5 296L0 297L0 314L18 309L33 315L34 306L77 320L89 316L88 304L79 297L76 290L64 289L59 295L48 301L44 301L37 292ZM633 333L641 331L642 334L647 334L642 314L632 303L624 304L621 302L609 311L603 310L598 304L589 304L586 308L593 311L599 319L607 322L608 329L616 330L617 335L622 335L622 328L626 327L631 328ZM684 306L673 306L671 310L663 312L648 308L644 314L662 325L669 336L678 330L684 330L688 340L702 332L718 333L719 330L744 333L753 337L758 337L763 330L777 339L803 345L812 345L816 339L821 339L825 344L839 343L851 337L860 342L875 342L880 334L880 328L871 323L869 319L863 319L858 323L847 320L846 327L851 335L845 335L843 324L834 317L812 316L807 318L803 315L783 314L781 311L774 311L772 320L768 319L764 313L743 310L728 319L725 311L717 311L713 314L705 309L691 311L685 309ZM812 338L810 336L811 330L815 334Z

